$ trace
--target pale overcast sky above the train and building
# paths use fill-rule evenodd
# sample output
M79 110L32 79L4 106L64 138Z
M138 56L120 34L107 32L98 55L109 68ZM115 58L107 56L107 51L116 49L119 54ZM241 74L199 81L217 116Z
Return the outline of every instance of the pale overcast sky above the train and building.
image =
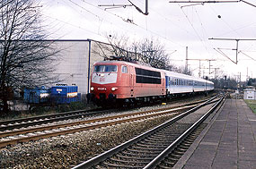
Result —
M171 55L172 63L185 65L186 46L189 59L212 59L211 69L246 79L256 77L256 40L240 40L235 64L235 40L208 38L256 39L256 7L239 3L171 4L168 0L148 0L149 14L138 13L133 6L105 9L99 4L129 4L127 0L42 0L42 12L51 38L95 39L106 41L106 34L129 37L130 42L143 38L158 39ZM145 12L145 0L131 0ZM246 0L255 4L256 0ZM127 21L131 22L127 22ZM216 50L221 48L219 52ZM223 52L229 57L221 55ZM232 60L232 61L231 61ZM201 68L208 68L201 61ZM199 76L199 61L189 60L190 69ZM201 74L208 76L208 69ZM214 72L211 73L214 77Z

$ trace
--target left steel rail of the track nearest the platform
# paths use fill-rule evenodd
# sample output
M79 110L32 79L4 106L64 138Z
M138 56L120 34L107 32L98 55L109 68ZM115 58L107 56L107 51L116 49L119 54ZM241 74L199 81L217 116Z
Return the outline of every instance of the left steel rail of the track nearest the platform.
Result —
M146 131L145 133L142 133L140 135L138 135L137 137L135 137L134 139L130 139L128 141L126 141L123 144L120 144L119 146L115 147L115 148L111 148L110 150L102 153L99 156L94 156L93 158L91 158L90 160L85 161L84 163L80 164L80 165L76 165L75 167L73 167L73 169L82 169L82 168L90 168L93 165L97 165L99 163L101 163L103 160L107 159L110 156L113 156L115 154L117 154L119 151L128 148L129 146L131 146L132 144L145 139L146 137L148 137L149 135L154 134L155 132L163 129L166 126L169 126L170 124L177 122L178 120L180 120L181 118L183 118L184 116L198 110L200 107L202 106L206 106L210 101L212 101L213 99L215 99L216 97L212 97L210 99L208 99L205 103L200 104L199 106L195 106L193 108L191 108L190 110L186 111L185 113L182 113L180 115L177 115L176 117L172 118L171 120L157 126L154 127L154 129L150 130L150 131Z

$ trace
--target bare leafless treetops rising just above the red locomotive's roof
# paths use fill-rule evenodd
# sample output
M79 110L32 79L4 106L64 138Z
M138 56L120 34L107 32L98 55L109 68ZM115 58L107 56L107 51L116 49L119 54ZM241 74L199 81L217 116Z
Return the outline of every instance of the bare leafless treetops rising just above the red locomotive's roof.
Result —
M171 70L174 67L169 62L164 46L154 39L145 38L140 42L128 44L126 36L117 34L107 35L108 44L96 42L94 54L101 55L104 59L110 56L126 57L127 60L147 63L155 68Z

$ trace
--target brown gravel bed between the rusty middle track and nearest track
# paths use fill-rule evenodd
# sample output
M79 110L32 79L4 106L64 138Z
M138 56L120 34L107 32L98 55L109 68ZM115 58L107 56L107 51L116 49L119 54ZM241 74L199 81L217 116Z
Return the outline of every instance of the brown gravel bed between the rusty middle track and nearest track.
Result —
M0 165L2 168L70 168L172 117L169 114L2 148Z

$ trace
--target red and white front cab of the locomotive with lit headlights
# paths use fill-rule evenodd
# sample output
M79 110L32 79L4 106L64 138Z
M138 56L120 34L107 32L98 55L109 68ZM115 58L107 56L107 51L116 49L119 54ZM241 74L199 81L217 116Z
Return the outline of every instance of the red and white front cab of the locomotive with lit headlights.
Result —
M116 102L125 97L129 88L128 65L125 62L94 63L90 98L97 105Z

